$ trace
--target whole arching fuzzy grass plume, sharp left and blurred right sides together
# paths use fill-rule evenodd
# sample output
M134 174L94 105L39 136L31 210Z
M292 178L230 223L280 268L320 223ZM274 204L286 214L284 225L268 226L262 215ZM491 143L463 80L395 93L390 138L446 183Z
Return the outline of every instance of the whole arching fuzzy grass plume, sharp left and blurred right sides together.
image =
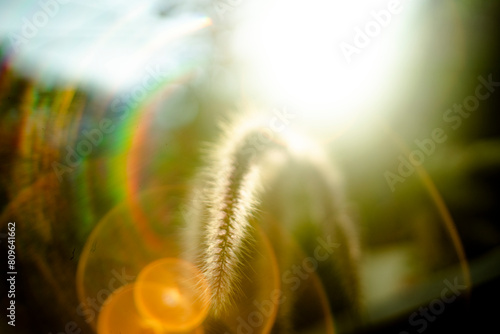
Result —
M195 212L186 218L190 231L195 230L191 245L209 283L214 315L222 313L240 290L249 265L245 257L251 246L249 218L257 209L271 213L305 240L306 251L311 242L316 246L317 236L331 236L340 245L323 265L332 271L327 275L334 281L332 298L348 311L359 309L358 239L345 214L336 169L319 146L295 135L271 141L260 129L246 122L226 126L222 140L207 154L208 167L200 173L192 199ZM258 198L266 203L259 204ZM288 249L276 247L280 266L289 267L295 258ZM277 319L285 331L292 327L296 303L293 296L286 296Z

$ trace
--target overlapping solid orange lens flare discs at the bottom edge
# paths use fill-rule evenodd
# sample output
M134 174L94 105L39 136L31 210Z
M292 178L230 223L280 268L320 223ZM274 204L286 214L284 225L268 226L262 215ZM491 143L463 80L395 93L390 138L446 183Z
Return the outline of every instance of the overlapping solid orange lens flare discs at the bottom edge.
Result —
M203 333L208 313L207 286L189 262L154 261L134 284L116 290L104 303L97 321L99 334Z

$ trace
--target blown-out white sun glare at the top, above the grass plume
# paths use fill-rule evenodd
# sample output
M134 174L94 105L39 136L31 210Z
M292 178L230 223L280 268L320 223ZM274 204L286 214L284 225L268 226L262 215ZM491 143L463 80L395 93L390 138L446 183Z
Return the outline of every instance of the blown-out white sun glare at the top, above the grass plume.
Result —
M233 52L259 97L341 128L387 98L413 12L408 0L276 0L247 11Z

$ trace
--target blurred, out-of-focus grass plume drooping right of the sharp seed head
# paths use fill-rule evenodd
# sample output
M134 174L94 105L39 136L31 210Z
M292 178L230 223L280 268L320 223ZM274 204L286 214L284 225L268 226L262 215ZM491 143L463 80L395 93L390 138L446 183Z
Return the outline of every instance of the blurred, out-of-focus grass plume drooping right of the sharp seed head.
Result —
M343 323L357 326L361 299L359 238L346 205L341 177L330 160L314 144L292 150L288 159L277 167L280 173L266 184L259 210L278 220L299 242L306 256L317 261L316 273L327 283L325 289L333 313L341 316ZM281 267L288 270L300 265L304 258L288 254L287 245L281 244L280 228L266 228L277 248ZM335 245L330 249L331 254L316 258L318 237ZM294 312L300 313L300 303L292 290L287 291L285 284L282 291L287 300L280 306L278 317L283 333L290 332Z

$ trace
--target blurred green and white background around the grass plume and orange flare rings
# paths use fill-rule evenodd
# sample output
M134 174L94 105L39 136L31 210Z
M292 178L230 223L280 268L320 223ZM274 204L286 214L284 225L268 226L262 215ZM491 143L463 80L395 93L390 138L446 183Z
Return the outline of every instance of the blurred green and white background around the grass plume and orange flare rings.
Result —
M342 43L389 1L41 3L0 2L0 240L7 254L15 220L19 268L16 328L2 321L2 333L59 333L69 321L91 332L76 314L75 275L97 222L141 191L187 185L218 123L250 110L288 110L288 128L321 142L343 175L364 290L364 323L346 333L416 333L409 316L440 298L444 279L464 282L430 183L415 172L392 191L384 176L403 146L442 128L447 140L422 168L456 225L472 286L426 332L495 325L500 91L456 129L443 116L479 76L500 81L497 1L402 0L351 61Z

